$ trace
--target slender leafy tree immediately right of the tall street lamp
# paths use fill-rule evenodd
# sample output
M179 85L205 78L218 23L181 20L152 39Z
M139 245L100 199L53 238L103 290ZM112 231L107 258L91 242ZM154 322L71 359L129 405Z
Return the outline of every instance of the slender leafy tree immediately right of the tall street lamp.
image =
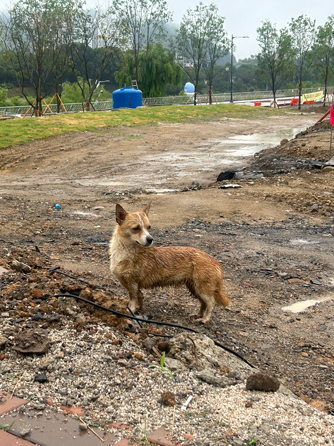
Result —
M276 107L276 91L293 78L294 58L291 36L286 28L278 30L269 20L257 28L260 53L257 55L257 72L268 82Z

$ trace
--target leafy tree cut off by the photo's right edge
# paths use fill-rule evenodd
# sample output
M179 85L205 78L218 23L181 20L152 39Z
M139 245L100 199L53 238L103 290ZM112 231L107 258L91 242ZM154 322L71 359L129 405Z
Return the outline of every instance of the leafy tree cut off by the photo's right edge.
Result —
M334 71L334 15L330 15L324 26L318 26L317 35L313 45L314 66L320 73L321 80L325 84L325 98L327 94L327 82L331 71Z

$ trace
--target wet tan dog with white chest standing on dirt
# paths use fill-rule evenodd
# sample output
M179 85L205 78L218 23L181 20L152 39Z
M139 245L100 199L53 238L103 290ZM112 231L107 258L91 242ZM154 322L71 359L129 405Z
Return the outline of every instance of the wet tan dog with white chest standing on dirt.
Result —
M129 213L116 205L117 226L109 244L110 270L129 291L129 308L137 311L143 307L142 288L186 285L200 300L198 313L191 316L208 322L216 305L226 307L230 302L223 290L220 263L199 249L152 246L149 207Z

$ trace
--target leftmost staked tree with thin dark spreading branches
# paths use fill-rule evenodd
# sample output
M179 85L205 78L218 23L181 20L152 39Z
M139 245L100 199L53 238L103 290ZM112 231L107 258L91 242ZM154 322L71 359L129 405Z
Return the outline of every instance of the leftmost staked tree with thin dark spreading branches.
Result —
M53 71L58 56L54 52L55 11L62 0L19 0L3 14L2 42L23 96L36 115L54 85ZM62 45L59 44L60 50ZM17 69L18 68L18 69ZM33 87L35 100L27 94Z

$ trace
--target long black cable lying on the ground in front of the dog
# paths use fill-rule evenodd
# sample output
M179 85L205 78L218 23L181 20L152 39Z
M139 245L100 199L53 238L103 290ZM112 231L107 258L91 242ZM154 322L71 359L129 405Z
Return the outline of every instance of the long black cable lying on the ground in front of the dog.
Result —
M96 308L98 308L100 310L108 311L109 313L112 313L112 314L114 314L116 316L120 316L120 317L127 318L127 319L133 319L133 320L136 320L138 322L145 322L145 323L149 323L149 324L165 325L167 327L180 328L182 330L186 330L186 331L191 332L191 333L196 333L197 335L202 335L202 333L198 332L197 330L194 330L194 329L192 329L190 327L186 327L184 325L172 324L171 322L153 321L151 319L144 319L144 318L141 318L141 317L138 317L138 316L124 314L124 313L121 313L120 311L112 310L111 308L107 308L107 307L104 307L103 305L100 305L100 304L97 304L95 302L92 302L91 300L85 299L84 297L76 296L75 294L70 294L70 293L66 293L66 294L64 294L64 293L53 294L52 296L46 296L44 299L48 299L50 297L73 297L73 299L81 300L82 302L85 302L85 303L87 303L89 305L93 305L94 307L96 307ZM221 344L220 342L215 341L214 339L212 339L212 340L213 340L214 344L217 345L218 347L223 348L224 350L234 354L235 356L237 356L239 359L241 359L243 362L248 364L253 369L256 368L255 366L253 366L253 364L248 362L247 359L245 359L243 356L241 356L236 351L232 350L229 347L226 347L225 345Z

